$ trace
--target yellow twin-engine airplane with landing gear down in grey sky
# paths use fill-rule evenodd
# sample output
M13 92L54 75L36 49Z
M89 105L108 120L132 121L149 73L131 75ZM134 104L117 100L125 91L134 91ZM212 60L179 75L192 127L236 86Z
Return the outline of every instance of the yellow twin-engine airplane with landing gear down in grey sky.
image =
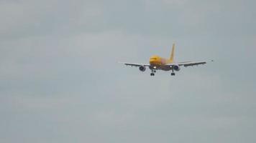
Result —
M151 70L150 76L155 76L155 73L157 70L163 70L163 71L172 71L171 76L175 76L174 71L180 71L180 66L196 66L199 64L206 64L206 61L184 61L184 62L175 62L174 61L174 50L175 50L175 44L173 44L172 51L170 53L170 58L165 59L160 56L154 55L150 57L149 64L137 64L137 63L126 63L126 62L120 62L122 64L125 64L127 66L137 66L139 67L140 71L145 71L148 67ZM213 61L213 60L211 60Z

